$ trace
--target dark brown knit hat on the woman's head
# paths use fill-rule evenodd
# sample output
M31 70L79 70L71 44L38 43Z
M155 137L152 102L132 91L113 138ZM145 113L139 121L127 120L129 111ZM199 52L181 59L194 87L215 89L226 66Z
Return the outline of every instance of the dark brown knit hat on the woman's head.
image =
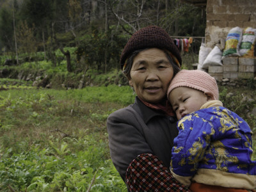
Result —
M123 69L125 60L132 52L144 48L159 48L170 51L179 61L181 65L180 52L174 44L173 39L164 29L158 26L147 26L136 31L128 40L121 55L120 67Z

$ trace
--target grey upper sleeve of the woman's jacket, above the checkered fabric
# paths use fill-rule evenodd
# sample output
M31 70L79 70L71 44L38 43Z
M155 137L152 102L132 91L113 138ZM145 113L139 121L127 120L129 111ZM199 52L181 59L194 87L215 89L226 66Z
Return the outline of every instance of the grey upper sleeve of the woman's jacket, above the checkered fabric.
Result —
M139 118L136 111L124 108L109 115L107 120L110 156L124 181L131 161L140 154L152 153L141 131Z

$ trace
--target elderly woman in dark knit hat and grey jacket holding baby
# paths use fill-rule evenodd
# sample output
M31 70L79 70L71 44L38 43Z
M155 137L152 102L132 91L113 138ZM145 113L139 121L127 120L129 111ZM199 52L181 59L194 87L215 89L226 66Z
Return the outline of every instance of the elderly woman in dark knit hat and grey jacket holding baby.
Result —
M179 50L164 29L148 26L131 36L120 65L137 96L107 120L116 170L129 191L189 191L169 171L178 130L166 92L180 70Z

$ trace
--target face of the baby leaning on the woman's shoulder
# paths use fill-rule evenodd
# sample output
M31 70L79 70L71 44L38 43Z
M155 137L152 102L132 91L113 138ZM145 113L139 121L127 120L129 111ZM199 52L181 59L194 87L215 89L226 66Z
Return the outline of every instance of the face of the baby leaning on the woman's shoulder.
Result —
M189 113L198 111L209 99L199 90L180 86L170 92L170 103L178 120Z

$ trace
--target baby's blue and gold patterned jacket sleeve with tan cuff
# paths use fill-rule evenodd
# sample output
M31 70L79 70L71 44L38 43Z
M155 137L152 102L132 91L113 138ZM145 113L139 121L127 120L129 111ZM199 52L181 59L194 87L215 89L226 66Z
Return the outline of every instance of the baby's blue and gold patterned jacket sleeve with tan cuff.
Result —
M173 141L170 170L175 179L189 186L215 131L211 122L192 115L182 118L178 127L179 135Z

